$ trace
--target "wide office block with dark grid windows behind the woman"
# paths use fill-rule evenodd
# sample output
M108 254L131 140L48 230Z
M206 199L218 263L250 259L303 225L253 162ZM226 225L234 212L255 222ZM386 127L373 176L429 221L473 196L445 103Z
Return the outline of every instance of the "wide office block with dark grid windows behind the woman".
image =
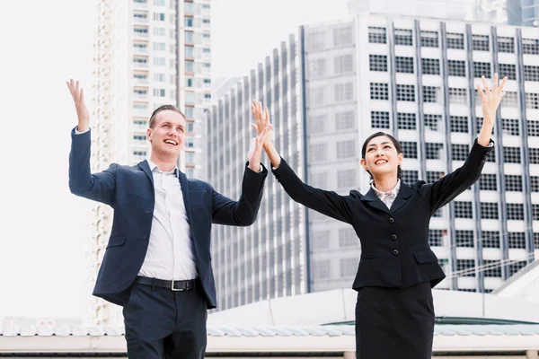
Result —
M538 29L372 14L301 27L215 99L209 178L239 193L256 99L270 107L280 153L315 187L365 193L360 146L378 130L401 141L404 181L435 181L464 163L482 124L475 83L494 72L508 76L495 149L429 231L449 275L438 287L490 292L539 255ZM288 283L294 293L349 287L358 267L353 229L297 207L271 176L257 223L214 234L221 309L291 294ZM299 276L284 275L294 256Z

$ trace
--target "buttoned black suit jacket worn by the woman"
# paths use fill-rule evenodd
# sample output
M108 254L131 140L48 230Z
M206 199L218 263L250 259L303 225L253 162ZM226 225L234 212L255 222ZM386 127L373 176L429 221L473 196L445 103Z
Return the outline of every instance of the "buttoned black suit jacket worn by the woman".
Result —
M405 288L426 281L434 287L445 274L429 247L430 217L479 179L491 150L475 141L464 165L444 178L430 184L402 183L391 209L372 188L366 195L351 190L349 196L340 196L308 186L284 160L273 173L296 202L354 227L361 241L354 289Z

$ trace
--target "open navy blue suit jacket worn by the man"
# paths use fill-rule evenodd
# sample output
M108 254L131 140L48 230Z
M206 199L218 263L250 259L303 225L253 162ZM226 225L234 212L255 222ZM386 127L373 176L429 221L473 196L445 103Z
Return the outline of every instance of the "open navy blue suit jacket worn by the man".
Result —
M72 131L69 188L77 196L114 208L110 239L93 295L123 305L146 256L155 207L154 178L146 161L136 166L112 163L106 171L91 173L90 144L90 131L80 135ZM268 171L263 168L257 173L246 168L242 196L237 202L220 195L208 183L189 180L179 173L197 271L208 308L215 308L216 285L209 252L211 225L254 223Z

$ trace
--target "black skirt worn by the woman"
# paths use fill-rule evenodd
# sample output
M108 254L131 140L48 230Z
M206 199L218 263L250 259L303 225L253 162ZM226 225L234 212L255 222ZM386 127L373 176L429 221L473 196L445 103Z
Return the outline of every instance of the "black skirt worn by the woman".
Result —
M435 315L430 282L403 289L367 286L358 292L357 358L431 358Z

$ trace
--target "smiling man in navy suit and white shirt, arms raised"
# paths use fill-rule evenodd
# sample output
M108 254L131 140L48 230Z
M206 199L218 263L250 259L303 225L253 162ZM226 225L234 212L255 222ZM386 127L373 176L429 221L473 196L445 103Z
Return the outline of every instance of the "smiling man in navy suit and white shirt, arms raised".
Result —
M207 309L216 307L211 224L255 221L268 173L261 150L270 128L252 140L237 202L178 170L187 123L172 105L155 109L149 120L149 161L112 163L92 174L84 92L73 80L67 86L78 117L71 135L69 188L114 209L93 295L123 306L129 358L201 358Z

